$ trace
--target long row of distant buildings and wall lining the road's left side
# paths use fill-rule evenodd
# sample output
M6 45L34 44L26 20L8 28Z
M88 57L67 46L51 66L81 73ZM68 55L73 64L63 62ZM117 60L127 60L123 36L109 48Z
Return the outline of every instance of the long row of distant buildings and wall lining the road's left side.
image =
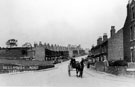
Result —
M27 46L28 45L28 46ZM57 58L68 59L74 56L84 55L84 50L79 46L59 46L53 44L34 43L34 46L25 44L22 47L0 48L0 59L10 60L38 60L51 61Z

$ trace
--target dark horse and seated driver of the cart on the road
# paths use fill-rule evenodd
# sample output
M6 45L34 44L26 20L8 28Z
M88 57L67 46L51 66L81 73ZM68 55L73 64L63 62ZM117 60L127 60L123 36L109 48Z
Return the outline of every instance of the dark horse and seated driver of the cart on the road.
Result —
M83 69L84 69L84 59L83 58L81 59L80 62L76 61L74 58L71 58L70 65L76 69L77 77L83 76Z

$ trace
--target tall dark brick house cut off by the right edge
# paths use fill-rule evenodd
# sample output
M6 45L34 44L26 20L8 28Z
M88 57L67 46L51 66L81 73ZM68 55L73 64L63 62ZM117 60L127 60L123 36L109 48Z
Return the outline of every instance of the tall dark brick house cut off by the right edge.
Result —
M127 4L127 17L123 26L124 60L135 62L135 1Z

